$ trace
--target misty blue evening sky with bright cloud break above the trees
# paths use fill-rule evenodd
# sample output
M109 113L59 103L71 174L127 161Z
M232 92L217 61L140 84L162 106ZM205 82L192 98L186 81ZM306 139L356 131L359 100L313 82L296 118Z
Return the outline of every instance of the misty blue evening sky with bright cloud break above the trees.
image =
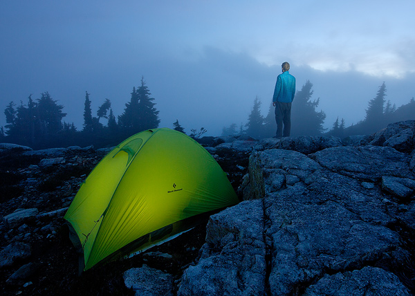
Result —
M313 84L324 127L349 126L382 82L396 107L415 97L414 11L413 0L0 1L0 126L9 102L48 91L80 130L86 91L93 115L107 98L121 115L144 77L160 127L220 136L246 124L256 97L266 116L282 62L297 91Z

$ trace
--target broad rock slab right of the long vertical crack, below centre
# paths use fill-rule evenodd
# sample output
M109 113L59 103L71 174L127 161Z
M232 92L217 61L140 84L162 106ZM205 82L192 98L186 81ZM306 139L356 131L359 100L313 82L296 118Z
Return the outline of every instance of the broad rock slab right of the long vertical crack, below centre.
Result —
M290 295L325 270L362 268L400 246L388 228L362 221L333 201L313 203L311 196L286 194L266 198L270 227L271 295ZM308 203L304 203L308 201ZM310 203L311 201L311 203Z

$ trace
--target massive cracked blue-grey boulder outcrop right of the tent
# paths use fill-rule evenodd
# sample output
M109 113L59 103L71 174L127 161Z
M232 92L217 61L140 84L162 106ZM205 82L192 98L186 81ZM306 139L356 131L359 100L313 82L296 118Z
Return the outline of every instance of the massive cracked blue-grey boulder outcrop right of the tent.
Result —
M408 295L414 156L383 145L320 148L251 154L246 201L211 217L178 295Z

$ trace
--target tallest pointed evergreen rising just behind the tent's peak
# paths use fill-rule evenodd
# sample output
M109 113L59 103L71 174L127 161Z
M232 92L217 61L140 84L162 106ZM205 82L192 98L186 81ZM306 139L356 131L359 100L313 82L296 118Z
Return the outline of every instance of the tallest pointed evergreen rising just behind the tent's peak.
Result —
M160 120L158 119L157 109L154 107L154 98L151 98L151 93L147 86L145 86L144 77L141 78L141 86L137 89L138 95L138 118L140 121L140 130L156 129Z

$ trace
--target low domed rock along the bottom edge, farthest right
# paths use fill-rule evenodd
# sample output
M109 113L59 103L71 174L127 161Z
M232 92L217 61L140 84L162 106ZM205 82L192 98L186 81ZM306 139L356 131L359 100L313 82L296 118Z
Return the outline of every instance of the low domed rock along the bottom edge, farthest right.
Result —
M398 277L380 268L365 267L352 272L324 275L316 284L309 286L304 296L320 295L396 295L409 296L409 290Z

